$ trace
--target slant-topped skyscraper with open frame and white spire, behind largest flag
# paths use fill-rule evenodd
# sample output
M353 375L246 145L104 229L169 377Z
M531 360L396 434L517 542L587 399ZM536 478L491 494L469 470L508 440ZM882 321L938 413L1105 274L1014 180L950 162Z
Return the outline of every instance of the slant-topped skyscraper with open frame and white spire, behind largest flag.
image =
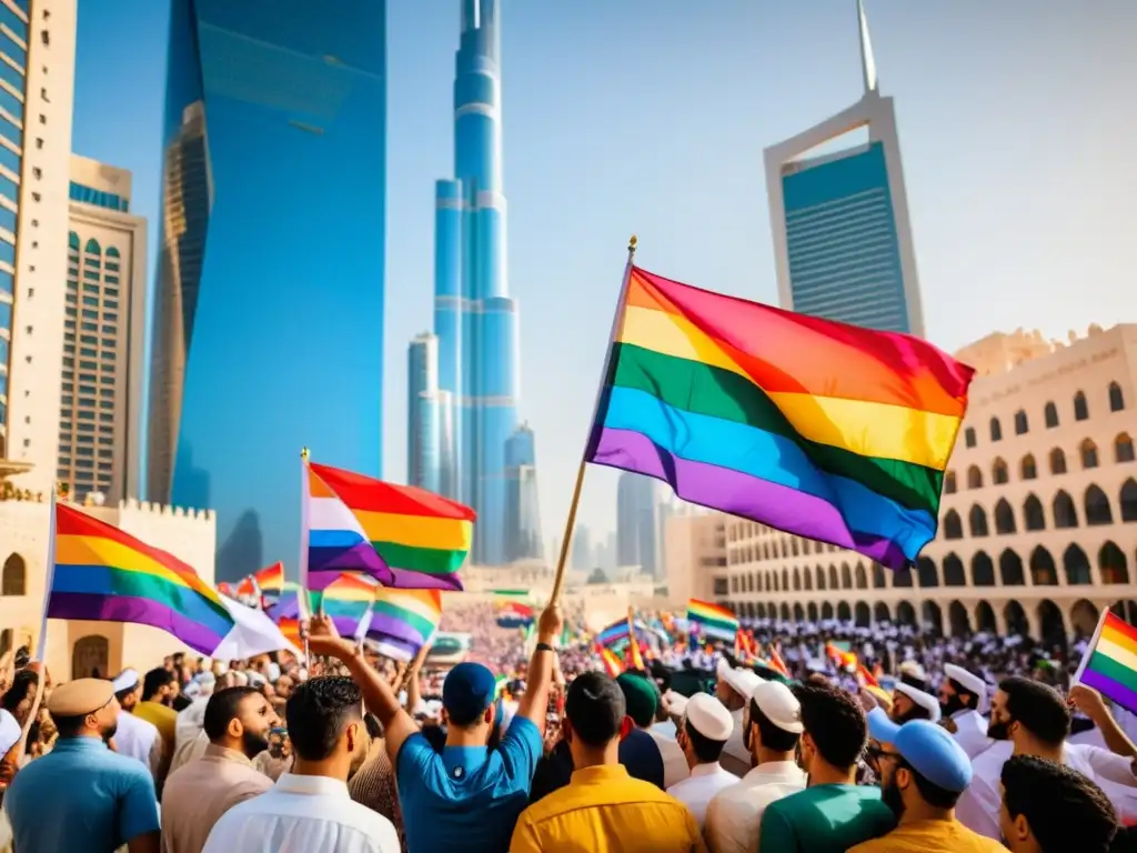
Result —
M869 329L923 334L896 111L882 98L862 0L864 94L848 109L765 150L782 307ZM868 142L810 152L868 129Z

